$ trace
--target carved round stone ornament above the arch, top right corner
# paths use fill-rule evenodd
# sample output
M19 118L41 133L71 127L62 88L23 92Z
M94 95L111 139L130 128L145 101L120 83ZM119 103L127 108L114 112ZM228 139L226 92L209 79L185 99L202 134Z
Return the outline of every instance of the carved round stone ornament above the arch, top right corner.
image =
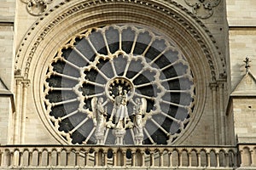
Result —
M207 19L212 16L213 8L218 6L220 0L185 0L193 7L193 13L201 19Z

